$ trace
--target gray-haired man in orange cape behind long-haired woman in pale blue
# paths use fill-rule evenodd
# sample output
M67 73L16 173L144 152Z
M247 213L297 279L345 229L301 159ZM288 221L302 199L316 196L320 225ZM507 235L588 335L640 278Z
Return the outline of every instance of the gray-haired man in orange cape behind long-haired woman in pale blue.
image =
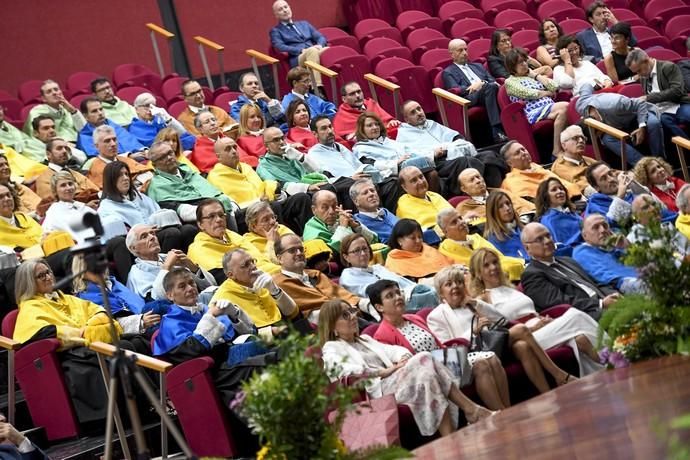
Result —
M96 148L97 156L86 163L88 173L86 177L93 182L98 189L103 188L103 170L108 163L115 160L121 161L129 166L129 171L132 173L132 180L137 185L137 188L145 184L152 177L151 166L134 161L127 155L118 154L119 142L114 130L109 125L98 126L93 131L93 144Z

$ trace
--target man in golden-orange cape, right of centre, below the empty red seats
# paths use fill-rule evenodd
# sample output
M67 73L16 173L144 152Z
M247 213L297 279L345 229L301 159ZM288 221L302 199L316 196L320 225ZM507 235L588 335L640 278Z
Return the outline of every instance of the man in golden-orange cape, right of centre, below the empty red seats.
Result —
M510 172L501 184L502 189L523 198L534 199L537 196L539 184L546 179L555 177L563 182L571 198L580 196L581 192L578 186L562 180L551 171L532 163L529 152L518 141L508 141L501 147L501 154L510 166Z

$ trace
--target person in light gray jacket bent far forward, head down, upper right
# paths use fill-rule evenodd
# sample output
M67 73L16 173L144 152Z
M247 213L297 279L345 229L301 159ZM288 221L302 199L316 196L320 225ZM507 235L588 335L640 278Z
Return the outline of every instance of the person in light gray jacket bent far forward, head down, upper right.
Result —
M575 103L575 108L583 117L591 117L630 132L632 144L628 142L626 153L628 164L631 166L642 158L643 155L635 146L641 145L645 139L652 155L666 155L661 122L655 111L649 110L644 100L631 99L617 93L594 94L592 85L586 84L580 90L580 98ZM619 141L616 138L604 134L601 141L609 150L619 154Z

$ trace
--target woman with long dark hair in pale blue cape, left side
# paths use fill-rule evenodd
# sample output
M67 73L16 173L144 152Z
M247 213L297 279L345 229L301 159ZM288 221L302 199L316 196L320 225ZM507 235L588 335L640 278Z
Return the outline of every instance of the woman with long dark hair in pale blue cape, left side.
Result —
M158 203L134 187L127 164L109 163L103 170L103 193L98 214L106 221L118 220L129 230L136 224L157 225L156 236L163 252L186 252L199 229L182 224L174 211L161 209Z

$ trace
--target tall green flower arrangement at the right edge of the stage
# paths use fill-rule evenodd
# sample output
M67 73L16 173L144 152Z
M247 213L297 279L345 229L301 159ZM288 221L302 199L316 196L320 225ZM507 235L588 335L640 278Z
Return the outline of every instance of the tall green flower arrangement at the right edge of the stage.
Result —
M648 293L625 296L602 315L600 358L608 367L690 352L690 260L674 227L654 221L638 230L624 262L637 267Z

